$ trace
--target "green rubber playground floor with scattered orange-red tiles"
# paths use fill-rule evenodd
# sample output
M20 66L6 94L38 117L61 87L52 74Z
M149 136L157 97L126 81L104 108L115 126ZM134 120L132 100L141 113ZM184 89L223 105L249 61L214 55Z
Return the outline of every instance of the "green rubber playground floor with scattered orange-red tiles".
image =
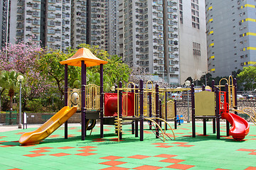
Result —
M174 127L174 123L170 123ZM246 169L256 170L256 127L242 141L226 137L225 123L220 124L220 139L207 123L196 123L196 137L191 137L191 123L178 125L176 140L156 139L144 123L144 141L131 134L131 125L123 125L123 139L117 142L114 126L104 126L105 137L100 138L100 126L87 131L82 141L80 125L68 125L68 139L64 127L58 128L39 145L20 146L19 137L37 126L17 129L0 126L0 170L6 169L106 169L106 170L171 170L171 169ZM171 130L170 130L171 133Z

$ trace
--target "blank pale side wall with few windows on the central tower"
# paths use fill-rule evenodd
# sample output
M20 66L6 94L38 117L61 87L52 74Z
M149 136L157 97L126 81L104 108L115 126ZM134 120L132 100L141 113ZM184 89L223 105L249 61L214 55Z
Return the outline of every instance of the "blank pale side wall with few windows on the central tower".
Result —
M179 0L179 56L181 84L207 72L205 1Z

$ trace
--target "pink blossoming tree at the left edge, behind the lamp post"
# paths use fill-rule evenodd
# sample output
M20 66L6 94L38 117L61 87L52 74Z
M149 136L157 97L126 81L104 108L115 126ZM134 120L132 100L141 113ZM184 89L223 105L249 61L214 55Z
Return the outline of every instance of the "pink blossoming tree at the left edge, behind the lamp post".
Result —
M31 100L46 91L50 86L38 71L38 61L43 56L44 50L36 42L28 40L18 44L6 44L0 50L0 71L15 70L23 74L23 107L26 100Z

